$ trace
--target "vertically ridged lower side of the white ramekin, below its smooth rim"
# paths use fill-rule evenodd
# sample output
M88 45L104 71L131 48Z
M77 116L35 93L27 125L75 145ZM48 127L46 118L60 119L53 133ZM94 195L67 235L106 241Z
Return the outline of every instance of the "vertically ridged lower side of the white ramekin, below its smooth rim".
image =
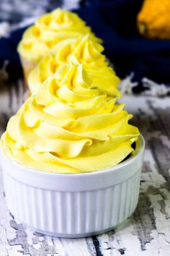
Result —
M79 237L111 229L138 203L140 170L112 187L60 192L31 187L4 171L6 201L15 218L45 234Z

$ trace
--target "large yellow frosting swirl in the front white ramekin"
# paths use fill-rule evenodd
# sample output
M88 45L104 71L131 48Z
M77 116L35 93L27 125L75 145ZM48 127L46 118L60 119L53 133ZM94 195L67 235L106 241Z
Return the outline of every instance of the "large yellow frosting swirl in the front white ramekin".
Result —
M110 90L110 91L109 91ZM56 173L99 171L133 152L132 115L94 85L82 65L63 65L9 120L1 148L23 166Z

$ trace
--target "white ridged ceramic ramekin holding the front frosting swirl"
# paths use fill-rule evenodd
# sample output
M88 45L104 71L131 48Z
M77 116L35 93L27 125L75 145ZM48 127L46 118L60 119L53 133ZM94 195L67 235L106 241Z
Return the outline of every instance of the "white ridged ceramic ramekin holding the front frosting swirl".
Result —
M84 237L109 231L138 203L144 140L113 168L84 174L35 171L1 152L6 202L17 220L42 234Z

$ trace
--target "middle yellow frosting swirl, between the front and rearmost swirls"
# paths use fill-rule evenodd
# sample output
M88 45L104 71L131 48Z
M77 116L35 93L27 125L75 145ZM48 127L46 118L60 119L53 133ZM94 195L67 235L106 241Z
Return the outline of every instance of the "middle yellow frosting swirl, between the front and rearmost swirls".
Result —
M78 39L63 40L30 72L28 85L31 93L37 93L42 82L53 75L58 67L73 61L84 65L84 69L90 74L96 85L102 87L106 92L109 90L109 93L112 90L112 96L120 98L120 91L117 90L120 80L115 71L108 67L102 51L103 47L92 41L89 35L84 35Z

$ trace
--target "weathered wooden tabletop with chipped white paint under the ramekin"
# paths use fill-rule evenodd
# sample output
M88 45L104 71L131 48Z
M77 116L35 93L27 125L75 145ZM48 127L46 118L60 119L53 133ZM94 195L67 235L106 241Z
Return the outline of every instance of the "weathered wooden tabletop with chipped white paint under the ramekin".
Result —
M0 89L0 132L24 100L24 85ZM170 99L124 96L133 124L146 139L138 207L116 229L86 239L37 234L6 208L0 171L0 256L168 256L170 255Z

